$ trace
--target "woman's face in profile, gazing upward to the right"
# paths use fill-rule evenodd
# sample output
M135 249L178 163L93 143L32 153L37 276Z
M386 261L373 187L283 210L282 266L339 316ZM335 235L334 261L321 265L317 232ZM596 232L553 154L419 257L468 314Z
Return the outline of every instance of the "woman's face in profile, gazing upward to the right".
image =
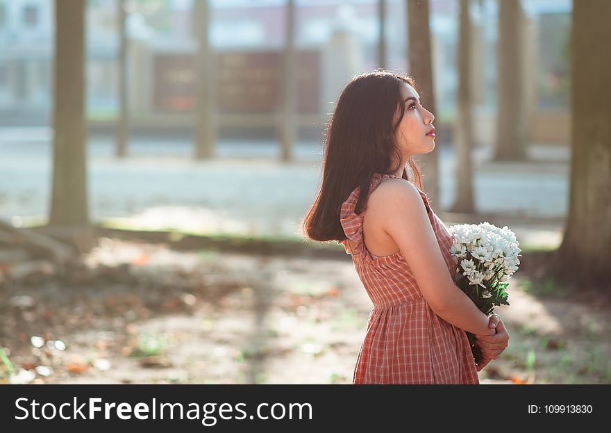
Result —
M401 85L401 99L405 104L405 114L396 130L396 136L403 158L428 154L435 149L435 134L428 134L433 129L435 116L420 104L418 93L408 83Z

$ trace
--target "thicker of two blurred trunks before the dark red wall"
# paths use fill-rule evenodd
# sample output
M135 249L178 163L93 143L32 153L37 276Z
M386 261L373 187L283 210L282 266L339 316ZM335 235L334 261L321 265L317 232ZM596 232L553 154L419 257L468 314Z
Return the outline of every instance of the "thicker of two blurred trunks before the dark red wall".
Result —
M212 158L215 154L216 96L215 54L210 47L210 0L193 2L193 28L197 40L195 55L196 109L195 109L195 157Z

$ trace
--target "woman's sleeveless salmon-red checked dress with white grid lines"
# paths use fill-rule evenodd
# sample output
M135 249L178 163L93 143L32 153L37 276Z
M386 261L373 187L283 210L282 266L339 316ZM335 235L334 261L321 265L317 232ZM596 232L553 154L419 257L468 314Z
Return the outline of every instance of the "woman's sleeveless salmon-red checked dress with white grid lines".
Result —
M393 174L374 174L374 190ZM407 181L403 179L404 181ZM455 263L449 252L453 238L424 200L444 261L451 274ZM342 204L342 240L373 303L354 367L353 384L479 384L477 368L464 330L451 325L430 309L401 251L387 256L371 254L363 242L362 216L354 213L359 188Z

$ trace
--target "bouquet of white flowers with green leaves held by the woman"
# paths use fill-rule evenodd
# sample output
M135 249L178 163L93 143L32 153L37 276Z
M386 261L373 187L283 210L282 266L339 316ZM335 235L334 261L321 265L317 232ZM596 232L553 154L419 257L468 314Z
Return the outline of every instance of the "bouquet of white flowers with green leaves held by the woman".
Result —
M450 247L454 263L457 264L453 280L476 306L487 316L494 306L509 305L505 288L518 269L521 250L513 231L507 226L499 227L482 222L480 224L457 224L448 228L454 238ZM475 345L475 337L467 332L471 352L476 363L481 361L481 352Z

